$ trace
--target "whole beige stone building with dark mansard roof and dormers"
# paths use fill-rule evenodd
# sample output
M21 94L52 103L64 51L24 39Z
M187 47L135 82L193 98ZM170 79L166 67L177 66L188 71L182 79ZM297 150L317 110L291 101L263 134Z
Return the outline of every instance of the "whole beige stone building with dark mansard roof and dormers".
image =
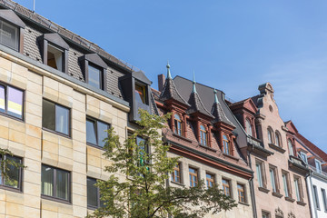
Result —
M123 142L155 111L141 71L10 0L0 1L0 217L84 217L100 205L104 130ZM3 169L1 169L3 170Z

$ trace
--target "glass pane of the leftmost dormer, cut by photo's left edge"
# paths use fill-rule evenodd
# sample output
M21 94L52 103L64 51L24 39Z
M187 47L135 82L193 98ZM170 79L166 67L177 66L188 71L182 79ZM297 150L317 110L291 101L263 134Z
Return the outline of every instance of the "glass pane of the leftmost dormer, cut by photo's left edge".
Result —
M2 21L1 44L18 51L18 28Z

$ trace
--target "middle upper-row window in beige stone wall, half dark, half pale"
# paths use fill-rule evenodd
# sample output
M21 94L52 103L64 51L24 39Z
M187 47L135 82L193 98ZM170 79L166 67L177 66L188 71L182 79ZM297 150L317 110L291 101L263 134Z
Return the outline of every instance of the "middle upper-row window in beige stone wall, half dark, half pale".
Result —
M59 104L43 100L42 126L60 134L70 134L70 110Z

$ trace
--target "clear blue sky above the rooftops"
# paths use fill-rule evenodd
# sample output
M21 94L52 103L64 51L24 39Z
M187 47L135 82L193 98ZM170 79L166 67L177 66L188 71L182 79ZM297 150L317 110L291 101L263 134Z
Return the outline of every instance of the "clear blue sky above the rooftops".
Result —
M33 8L33 0L16 0ZM271 82L284 121L327 152L327 1L35 0L35 12L142 69L167 60L234 101Z

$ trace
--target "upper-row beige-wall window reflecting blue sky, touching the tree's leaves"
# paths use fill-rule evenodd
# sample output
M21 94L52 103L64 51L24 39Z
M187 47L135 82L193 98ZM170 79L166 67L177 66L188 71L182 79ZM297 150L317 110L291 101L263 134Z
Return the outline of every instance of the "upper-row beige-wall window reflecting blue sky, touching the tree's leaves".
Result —
M109 124L93 118L86 118L86 142L88 144L98 145L104 147L104 139L108 136L106 130L110 128Z

